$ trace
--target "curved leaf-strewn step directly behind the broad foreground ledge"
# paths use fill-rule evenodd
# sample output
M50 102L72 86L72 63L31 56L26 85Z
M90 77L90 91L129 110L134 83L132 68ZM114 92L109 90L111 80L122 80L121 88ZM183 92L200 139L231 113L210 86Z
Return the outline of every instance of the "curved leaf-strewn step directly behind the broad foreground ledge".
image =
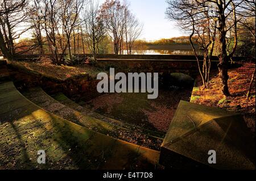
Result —
M118 127L117 125L106 123L100 119L88 116L86 113L73 110L72 108L65 106L64 104L61 104L57 100L53 99L40 87L23 91L22 94L26 96L28 100L31 100L45 110L54 113L57 116L63 117L63 119L79 124L82 127L100 132L113 138L131 142L133 144L145 146L150 149L160 150L160 145L163 141L162 138L150 136L127 128Z

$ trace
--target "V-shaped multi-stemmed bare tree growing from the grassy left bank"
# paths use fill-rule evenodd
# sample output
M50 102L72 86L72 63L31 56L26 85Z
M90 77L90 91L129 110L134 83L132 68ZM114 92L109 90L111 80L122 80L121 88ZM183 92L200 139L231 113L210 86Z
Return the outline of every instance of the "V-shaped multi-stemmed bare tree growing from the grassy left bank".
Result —
M46 8L44 31L49 48L55 57L55 63L61 64L67 49L69 58L72 60L71 35L73 33L75 36L77 19L79 19L84 0L43 0L43 2ZM59 53L61 53L60 57Z

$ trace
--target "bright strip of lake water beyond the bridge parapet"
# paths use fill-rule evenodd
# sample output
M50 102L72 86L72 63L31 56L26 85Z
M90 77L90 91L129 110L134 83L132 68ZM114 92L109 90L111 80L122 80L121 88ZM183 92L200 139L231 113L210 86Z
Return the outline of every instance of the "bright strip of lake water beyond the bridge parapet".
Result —
M203 51L197 50L199 55L203 55ZM124 51L123 54L127 54L127 51ZM194 54L193 50L166 50L166 49L154 49L154 50L132 50L131 54L181 54L181 55L192 55Z

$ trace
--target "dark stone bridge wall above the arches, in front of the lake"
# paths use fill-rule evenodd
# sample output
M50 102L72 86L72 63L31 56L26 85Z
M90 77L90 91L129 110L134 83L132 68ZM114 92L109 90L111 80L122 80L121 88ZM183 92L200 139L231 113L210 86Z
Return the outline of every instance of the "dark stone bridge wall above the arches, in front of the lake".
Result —
M200 63L203 57L200 56ZM241 57L234 57L234 61L241 61ZM218 58L213 57L211 69L217 69ZM175 55L118 55L99 57L98 66L109 69L116 68L119 71L131 72L157 72L157 73L184 73L195 78L199 75L198 64L195 56Z

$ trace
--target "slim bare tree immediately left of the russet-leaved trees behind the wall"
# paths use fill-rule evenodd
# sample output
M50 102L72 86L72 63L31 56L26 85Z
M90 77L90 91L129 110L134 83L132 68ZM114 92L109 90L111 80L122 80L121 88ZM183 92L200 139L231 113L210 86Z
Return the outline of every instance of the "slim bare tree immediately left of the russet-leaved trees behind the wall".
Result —
M102 19L98 16L98 12L98 2L90 0L84 12L85 41L95 60L98 53L98 45L105 37L105 27Z

